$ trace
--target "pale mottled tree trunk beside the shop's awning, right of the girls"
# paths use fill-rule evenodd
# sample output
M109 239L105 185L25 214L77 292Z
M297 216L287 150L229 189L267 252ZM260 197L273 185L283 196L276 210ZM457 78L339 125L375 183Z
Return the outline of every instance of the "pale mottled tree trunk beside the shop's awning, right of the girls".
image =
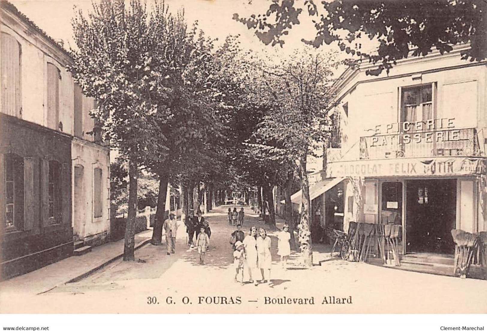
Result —
M311 246L310 210L311 201L309 198L309 182L306 172L306 154L300 156L300 177L301 177L301 219L299 225L299 242L303 255L303 263L306 267L313 266L313 248Z

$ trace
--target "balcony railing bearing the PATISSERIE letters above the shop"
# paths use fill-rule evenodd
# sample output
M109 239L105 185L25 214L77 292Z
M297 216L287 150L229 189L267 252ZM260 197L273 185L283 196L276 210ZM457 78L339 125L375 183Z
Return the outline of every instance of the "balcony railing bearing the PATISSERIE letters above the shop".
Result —
M477 129L399 132L360 138L360 159L480 156Z

